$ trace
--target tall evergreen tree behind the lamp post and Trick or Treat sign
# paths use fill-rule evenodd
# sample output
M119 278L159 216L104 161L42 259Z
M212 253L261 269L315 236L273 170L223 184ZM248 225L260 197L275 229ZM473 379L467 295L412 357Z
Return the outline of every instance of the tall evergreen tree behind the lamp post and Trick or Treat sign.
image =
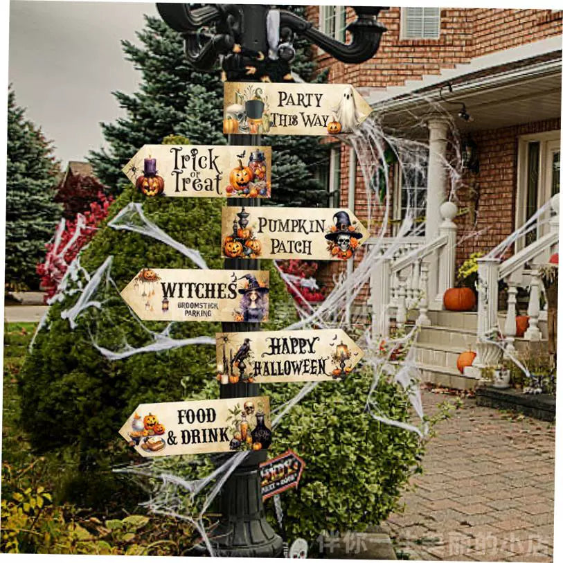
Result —
M297 6L295 11L303 14L304 7ZM125 57L142 73L141 85L132 94L114 92L127 115L115 123L102 123L109 147L91 152L89 158L98 178L114 193L129 184L121 168L145 144L160 143L170 134L184 135L194 144L226 143L219 67L195 71L186 60L181 36L159 17L146 16L145 20L145 28L137 33L140 46L122 42ZM297 39L295 46L294 70L304 80L312 80L314 64L309 47L303 39ZM328 151L320 140L271 136L264 143L273 151L272 199L268 203L325 205L325 188L316 172L327 166Z

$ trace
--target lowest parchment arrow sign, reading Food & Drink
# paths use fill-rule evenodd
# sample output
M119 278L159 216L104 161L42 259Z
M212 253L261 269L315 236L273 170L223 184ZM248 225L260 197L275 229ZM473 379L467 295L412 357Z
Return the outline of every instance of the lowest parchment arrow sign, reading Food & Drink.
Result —
M269 398L140 404L119 434L144 457L267 449Z

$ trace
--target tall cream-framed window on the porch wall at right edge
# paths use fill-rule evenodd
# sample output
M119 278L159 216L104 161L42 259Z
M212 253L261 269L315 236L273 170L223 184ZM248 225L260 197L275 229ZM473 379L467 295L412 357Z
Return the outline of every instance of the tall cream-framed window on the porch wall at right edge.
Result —
M518 142L516 227L523 225L560 190L561 140L559 131L523 135ZM546 233L548 213L539 225L519 238L516 250Z

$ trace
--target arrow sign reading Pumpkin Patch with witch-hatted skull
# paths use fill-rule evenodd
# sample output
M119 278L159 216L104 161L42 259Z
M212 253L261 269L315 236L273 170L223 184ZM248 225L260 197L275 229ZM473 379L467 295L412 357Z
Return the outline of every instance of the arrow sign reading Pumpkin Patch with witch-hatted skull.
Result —
M369 236L348 209L224 207L221 211L227 258L348 260Z

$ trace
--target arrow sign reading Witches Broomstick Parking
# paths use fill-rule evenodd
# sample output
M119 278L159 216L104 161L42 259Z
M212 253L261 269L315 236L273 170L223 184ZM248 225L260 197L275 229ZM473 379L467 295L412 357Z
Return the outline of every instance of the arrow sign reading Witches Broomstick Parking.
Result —
M143 321L268 320L269 272L143 268L121 296Z

